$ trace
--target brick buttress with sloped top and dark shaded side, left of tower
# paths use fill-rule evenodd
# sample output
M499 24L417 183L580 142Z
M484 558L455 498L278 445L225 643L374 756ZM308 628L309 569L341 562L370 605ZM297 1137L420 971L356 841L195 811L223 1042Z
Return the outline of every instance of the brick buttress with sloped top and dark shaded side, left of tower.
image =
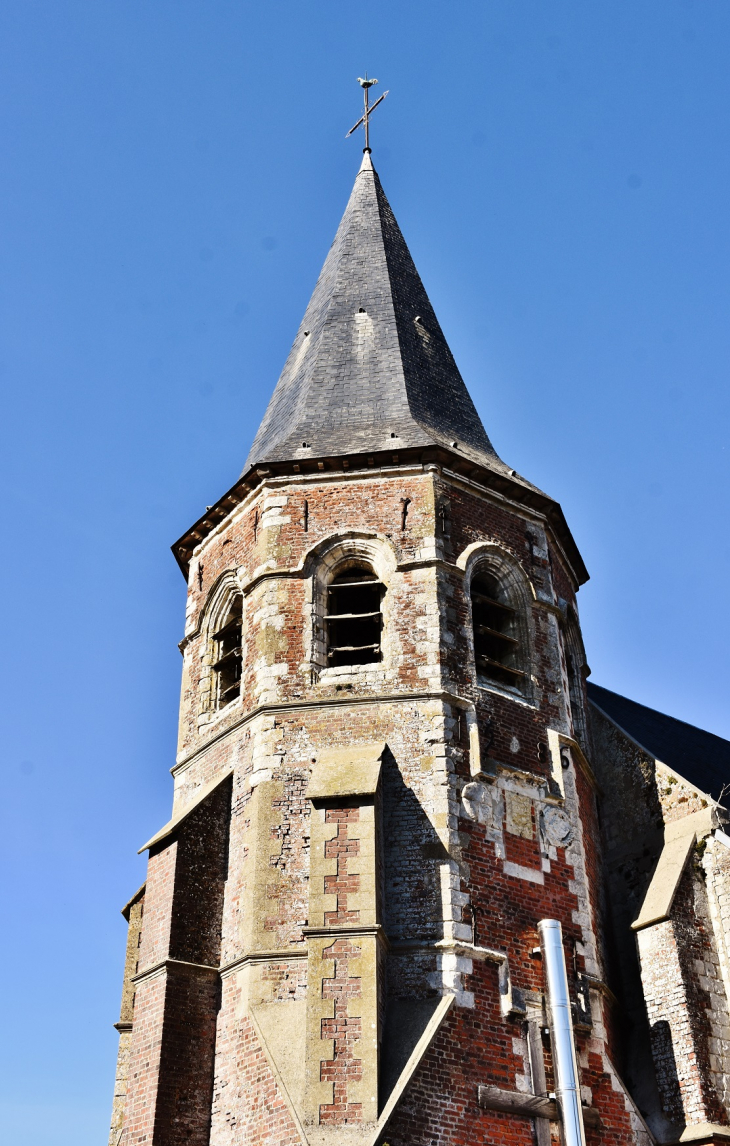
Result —
M131 979L125 1146L209 1143L230 794L229 782L219 785L150 850Z

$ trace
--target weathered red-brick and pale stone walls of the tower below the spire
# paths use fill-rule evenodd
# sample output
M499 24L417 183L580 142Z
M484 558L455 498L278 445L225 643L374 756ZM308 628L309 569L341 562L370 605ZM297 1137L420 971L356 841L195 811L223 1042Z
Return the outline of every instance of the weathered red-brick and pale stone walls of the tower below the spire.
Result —
M508 563L524 590L523 696L480 684L474 673L469 578L486 554ZM369 562L386 587L383 659L336 669L323 656L323 586L348 555ZM242 694L217 712L211 618L231 591L243 597ZM366 1030L384 1029L398 1044L391 1060L400 1069L408 1038L418 1023L427 1028L442 995L454 995L456 1006L385 1139L527 1141L531 1122L482 1110L477 1088L529 1085L524 1000L541 997L533 952L545 917L563 923L575 995L590 996L581 1082L609 1128L601 1140L641 1140L611 1065L614 1018L601 994L595 793L582 754L571 748L566 686L573 605L574 584L544 519L435 466L265 482L199 547L182 643L175 813L193 807L204 785L233 777L227 794L218 790L219 803L197 807L150 854L142 975L171 958L198 972L185 979L166 964L139 981L129 1144L182 1143L185 1133L207 1141L207 1133L210 1146L288 1146L305 1123L317 1146L371 1135L388 1096L382 1089L375 1099L377 1091L361 1085L371 1069L363 1066ZM470 747L474 717L479 760ZM317 937L307 931L312 769L325 749L376 741L387 744L383 842L370 873L377 926L366 937ZM466 785L471 802L462 799ZM362 923L353 896L364 868L355 889L347 859L360 830L348 817L362 807L345 803L332 810L345 819L324 824L339 848L327 857L335 863L325 873L328 926ZM206 978L201 966L220 975ZM315 996L329 1007L316 1030L307 1019ZM194 1017L193 1031L183 1012ZM393 1018L406 1013L408 1022ZM320 1053L317 1042L331 1053ZM545 1061L549 1075L548 1051ZM324 1099L316 1097L322 1088Z

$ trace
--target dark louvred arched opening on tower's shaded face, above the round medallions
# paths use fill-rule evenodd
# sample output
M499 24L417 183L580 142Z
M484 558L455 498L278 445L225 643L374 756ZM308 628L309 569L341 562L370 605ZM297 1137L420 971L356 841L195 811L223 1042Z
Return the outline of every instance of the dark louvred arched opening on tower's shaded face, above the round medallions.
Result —
M526 673L520 668L519 614L492 573L478 573L471 582L471 610L477 675L521 691Z

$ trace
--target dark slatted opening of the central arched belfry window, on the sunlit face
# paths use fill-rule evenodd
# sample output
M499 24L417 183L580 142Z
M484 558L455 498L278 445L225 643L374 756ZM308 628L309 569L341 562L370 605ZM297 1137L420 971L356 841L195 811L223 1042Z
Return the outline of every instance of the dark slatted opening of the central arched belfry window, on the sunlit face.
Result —
M364 564L340 570L327 587L327 664L371 665L380 660L382 581Z

